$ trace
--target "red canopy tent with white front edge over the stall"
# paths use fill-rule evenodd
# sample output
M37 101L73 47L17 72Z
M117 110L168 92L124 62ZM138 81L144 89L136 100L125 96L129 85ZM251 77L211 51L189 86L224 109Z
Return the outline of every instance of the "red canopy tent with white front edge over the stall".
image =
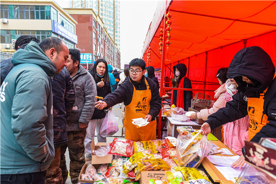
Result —
M168 20L170 32L166 32ZM171 38L167 39L167 34ZM168 46L167 40L171 42ZM167 0L157 7L142 57L147 65L161 68L161 95L170 89L163 86L164 76L172 78L173 66L184 63L192 90L213 96L211 91L218 88L217 70L228 67L236 52L259 46L275 64L275 41L276 1Z

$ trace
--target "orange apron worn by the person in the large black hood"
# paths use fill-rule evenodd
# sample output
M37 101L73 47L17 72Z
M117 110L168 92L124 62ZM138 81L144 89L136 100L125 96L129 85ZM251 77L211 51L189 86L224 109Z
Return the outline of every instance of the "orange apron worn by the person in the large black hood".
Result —
M267 88L266 88L267 90ZM250 124L248 128L248 139L249 141L255 136L256 133L260 131L260 129L269 123L267 120L266 114L263 114L263 102L264 102L264 93L260 94L259 98L248 98L247 101L247 112L250 119Z

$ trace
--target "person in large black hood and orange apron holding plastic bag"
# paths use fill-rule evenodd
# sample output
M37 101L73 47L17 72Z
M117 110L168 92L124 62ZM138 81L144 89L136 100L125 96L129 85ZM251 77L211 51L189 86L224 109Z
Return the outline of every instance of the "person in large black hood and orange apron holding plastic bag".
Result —
M224 108L208 116L201 126L202 134L240 119L248 114L248 137L258 142L261 137L276 137L276 79L275 67L269 55L259 47L241 49L229 65L228 78L238 84L238 93ZM242 149L244 154L244 148ZM232 164L240 167L244 156Z

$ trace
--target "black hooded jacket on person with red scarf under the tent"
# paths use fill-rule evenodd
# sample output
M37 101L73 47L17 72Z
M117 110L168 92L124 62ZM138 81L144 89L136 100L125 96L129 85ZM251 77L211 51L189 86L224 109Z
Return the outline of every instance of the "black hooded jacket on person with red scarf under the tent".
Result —
M192 88L192 83L191 80L188 79L187 77L185 77L185 75L187 74L187 67L185 64L179 63L177 65L175 65L173 67L174 69L174 73L175 73L175 69L178 69L180 71L180 77L179 77L179 81L184 77L183 80L183 88ZM178 85L180 86L180 84ZM177 104L177 90L173 91L173 103L172 104ZM193 98L193 91L184 91L184 110L188 111L189 107L191 107L191 101Z

